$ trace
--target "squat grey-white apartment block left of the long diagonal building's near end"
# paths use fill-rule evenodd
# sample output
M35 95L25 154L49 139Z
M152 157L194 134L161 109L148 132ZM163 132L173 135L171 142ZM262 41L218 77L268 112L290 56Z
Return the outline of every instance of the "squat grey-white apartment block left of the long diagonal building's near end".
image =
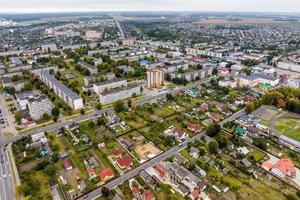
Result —
M29 114L34 120L38 120L43 117L44 114L51 114L52 103L48 100L47 96L35 95L28 98Z

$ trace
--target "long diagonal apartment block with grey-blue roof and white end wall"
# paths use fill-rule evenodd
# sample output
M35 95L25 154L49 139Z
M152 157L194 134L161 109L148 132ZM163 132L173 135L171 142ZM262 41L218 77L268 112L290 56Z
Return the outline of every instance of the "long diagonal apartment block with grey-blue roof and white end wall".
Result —
M40 72L40 79L49 87L52 88L57 96L66 102L73 109L83 108L82 98L73 92L70 88L60 83L54 76L47 71Z

